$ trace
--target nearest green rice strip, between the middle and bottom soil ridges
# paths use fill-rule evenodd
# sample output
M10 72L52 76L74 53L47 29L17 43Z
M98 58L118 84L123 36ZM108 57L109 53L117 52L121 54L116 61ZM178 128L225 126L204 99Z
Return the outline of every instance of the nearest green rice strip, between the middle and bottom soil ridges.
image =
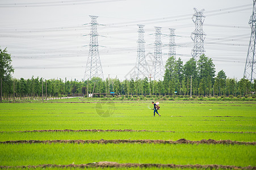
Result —
M19 144L0 145L1 165L92 162L222 164L255 166L256 148L247 145Z

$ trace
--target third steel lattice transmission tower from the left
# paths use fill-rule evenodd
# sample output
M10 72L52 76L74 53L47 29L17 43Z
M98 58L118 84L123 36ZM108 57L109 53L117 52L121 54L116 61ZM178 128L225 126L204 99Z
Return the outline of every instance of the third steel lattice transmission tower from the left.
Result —
M165 70L163 69L163 60L162 60L162 41L161 41L161 27L154 27L156 29L155 33L155 47L154 47L154 60L153 60L153 79L154 80L163 80L163 75Z

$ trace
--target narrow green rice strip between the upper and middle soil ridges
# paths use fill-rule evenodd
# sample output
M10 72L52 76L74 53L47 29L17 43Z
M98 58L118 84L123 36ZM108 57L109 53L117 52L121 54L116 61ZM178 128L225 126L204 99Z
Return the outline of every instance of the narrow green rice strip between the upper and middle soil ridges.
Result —
M45 132L5 132L0 133L0 141L20 141L20 140L111 140L111 139L151 139L177 141L178 139L187 139L190 141L200 141L202 139L231 140L241 142L254 142L255 133L196 133L196 132L166 132L166 131L45 131Z

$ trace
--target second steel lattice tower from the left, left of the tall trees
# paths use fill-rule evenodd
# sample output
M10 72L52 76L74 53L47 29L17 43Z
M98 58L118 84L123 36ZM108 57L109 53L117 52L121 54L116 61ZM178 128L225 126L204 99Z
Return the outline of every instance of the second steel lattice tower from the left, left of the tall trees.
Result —
M144 25L138 25L138 47L137 47L137 61L136 61L136 78L144 79L149 75L148 65L145 58L145 40L144 40Z

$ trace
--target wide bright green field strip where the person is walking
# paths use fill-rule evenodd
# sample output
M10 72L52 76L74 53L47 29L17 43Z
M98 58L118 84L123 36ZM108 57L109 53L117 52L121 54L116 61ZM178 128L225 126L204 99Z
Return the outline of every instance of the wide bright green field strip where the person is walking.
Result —
M115 103L115 111L109 117L101 117L96 112L96 103L3 103L0 107L0 131L133 129L255 132L254 103L162 101L161 117L153 117L152 110L148 109L152 107L151 103Z

